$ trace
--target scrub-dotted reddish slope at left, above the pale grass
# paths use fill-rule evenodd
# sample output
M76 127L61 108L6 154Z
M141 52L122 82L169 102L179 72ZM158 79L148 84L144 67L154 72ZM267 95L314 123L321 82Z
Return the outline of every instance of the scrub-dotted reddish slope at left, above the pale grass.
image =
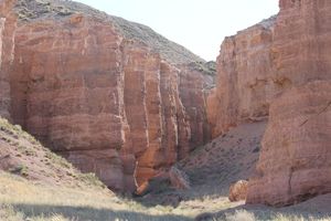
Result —
M83 175L64 158L42 146L19 125L0 117L0 169L28 180L52 186L105 186L93 175Z

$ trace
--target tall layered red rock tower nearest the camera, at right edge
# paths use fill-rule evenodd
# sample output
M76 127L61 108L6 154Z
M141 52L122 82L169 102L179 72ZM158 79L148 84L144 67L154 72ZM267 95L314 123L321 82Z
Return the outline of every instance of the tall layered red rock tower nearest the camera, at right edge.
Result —
M270 107L248 203L286 206L331 192L330 1L280 1L271 54L293 85Z

